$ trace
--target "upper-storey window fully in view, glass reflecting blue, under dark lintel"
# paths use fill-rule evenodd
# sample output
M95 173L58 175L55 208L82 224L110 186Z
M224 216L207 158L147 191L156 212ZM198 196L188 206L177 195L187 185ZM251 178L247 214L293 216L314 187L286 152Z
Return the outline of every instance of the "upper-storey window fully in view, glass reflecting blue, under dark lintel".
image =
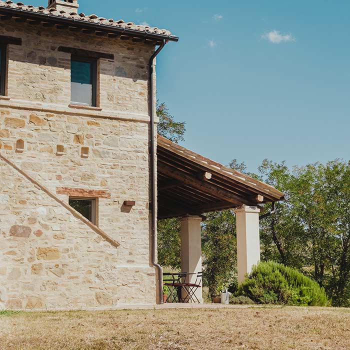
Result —
M96 60L72 57L70 64L71 103L96 106Z

